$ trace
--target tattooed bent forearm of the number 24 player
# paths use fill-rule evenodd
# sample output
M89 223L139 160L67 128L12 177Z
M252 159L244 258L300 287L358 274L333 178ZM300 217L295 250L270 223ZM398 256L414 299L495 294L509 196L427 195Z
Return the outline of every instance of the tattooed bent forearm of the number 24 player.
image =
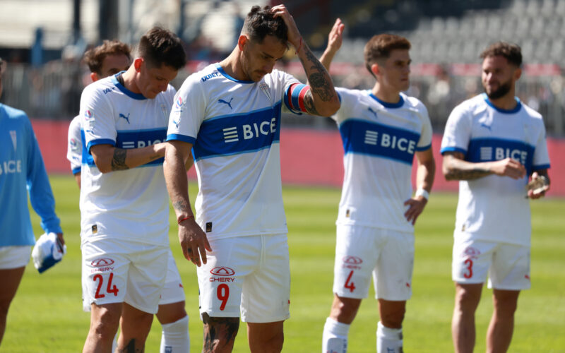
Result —
M96 167L102 173L138 167L165 156L165 143L143 148L116 148L112 145L94 145L90 148Z

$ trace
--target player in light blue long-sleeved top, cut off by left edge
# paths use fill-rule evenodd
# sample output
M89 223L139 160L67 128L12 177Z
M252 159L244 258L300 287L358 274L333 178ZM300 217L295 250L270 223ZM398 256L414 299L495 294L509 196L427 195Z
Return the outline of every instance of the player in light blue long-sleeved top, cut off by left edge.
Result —
M6 63L0 59L0 96ZM8 308L23 277L35 237L28 210L41 217L46 233L57 233L64 243L55 200L35 133L25 112L0 103L0 343Z

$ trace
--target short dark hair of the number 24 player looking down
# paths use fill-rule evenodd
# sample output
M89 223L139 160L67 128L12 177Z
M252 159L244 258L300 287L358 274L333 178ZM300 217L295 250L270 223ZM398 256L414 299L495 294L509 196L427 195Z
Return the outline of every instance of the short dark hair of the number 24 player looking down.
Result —
M181 40L165 28L153 27L145 32L139 40L137 54L151 67L166 65L179 70L186 64Z

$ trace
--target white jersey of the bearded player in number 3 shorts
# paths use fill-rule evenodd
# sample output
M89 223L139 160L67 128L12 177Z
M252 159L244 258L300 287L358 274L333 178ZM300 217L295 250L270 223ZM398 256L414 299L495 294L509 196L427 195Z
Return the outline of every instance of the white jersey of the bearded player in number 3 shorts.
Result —
M542 116L516 101L512 110L494 107L485 94L459 104L447 121L441 153L462 152L469 162L511 157L525 166L528 176L549 168ZM455 235L529 246L528 176L459 181Z

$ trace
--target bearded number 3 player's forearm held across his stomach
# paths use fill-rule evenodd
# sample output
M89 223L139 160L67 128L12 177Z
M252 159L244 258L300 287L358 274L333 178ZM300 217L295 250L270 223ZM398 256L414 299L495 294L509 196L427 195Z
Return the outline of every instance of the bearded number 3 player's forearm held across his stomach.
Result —
M444 152L442 171L447 180L475 180L487 175L521 179L525 177L525 167L511 158L494 162L467 162L461 152Z

